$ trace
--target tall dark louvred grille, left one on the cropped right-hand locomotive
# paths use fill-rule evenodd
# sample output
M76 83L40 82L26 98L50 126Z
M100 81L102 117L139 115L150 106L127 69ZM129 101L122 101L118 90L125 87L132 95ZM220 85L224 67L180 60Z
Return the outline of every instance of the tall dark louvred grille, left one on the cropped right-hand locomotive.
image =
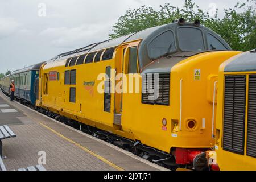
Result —
M243 154L245 137L246 76L225 77L223 149Z

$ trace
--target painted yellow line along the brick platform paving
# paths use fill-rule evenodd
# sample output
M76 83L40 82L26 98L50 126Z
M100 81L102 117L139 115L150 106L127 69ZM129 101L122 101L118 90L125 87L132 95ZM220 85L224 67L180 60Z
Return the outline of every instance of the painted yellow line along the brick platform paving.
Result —
M48 126L44 125L44 124L41 123L41 122L39 122L39 124L42 125L43 127L46 127L48 130L52 131L52 133L55 133L55 134L58 135L59 137L61 137L61 138L65 139L65 140L67 140L67 141L70 142L70 143L75 144L75 146L81 148L82 150L84 150L84 151L88 152L89 154L95 156L96 158L102 160L102 162L104 162L104 163L106 163L106 164L109 164L109 166L111 166L111 167L117 169L118 171L124 171L123 168L121 168L121 167L119 167L119 166L113 164L112 162L110 162L109 160L103 158L102 156L100 156L100 155L98 155L98 154L95 154L93 151L90 151L88 148L81 146L80 144L78 144L78 143L74 142L73 140L71 140L71 139L65 137L64 135L61 135L60 133L57 133L57 131L51 129L51 127L48 127Z

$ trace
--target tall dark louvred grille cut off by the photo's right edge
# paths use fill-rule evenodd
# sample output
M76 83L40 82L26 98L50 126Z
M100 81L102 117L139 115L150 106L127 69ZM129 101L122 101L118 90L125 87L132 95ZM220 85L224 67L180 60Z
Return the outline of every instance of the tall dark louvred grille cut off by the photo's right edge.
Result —
M256 158L256 75L249 76L247 155Z

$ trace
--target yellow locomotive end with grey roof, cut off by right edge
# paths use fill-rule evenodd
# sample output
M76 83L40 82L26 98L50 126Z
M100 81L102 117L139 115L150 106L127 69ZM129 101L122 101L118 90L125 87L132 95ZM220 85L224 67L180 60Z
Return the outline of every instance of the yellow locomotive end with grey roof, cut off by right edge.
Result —
M256 170L256 49L220 66L216 154L221 170Z

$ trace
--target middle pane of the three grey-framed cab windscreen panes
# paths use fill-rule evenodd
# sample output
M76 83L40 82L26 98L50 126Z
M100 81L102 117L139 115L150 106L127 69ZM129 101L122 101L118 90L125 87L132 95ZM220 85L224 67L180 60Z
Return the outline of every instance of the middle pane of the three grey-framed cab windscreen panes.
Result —
M200 29L181 27L178 29L178 39L182 51L203 51L204 39Z

